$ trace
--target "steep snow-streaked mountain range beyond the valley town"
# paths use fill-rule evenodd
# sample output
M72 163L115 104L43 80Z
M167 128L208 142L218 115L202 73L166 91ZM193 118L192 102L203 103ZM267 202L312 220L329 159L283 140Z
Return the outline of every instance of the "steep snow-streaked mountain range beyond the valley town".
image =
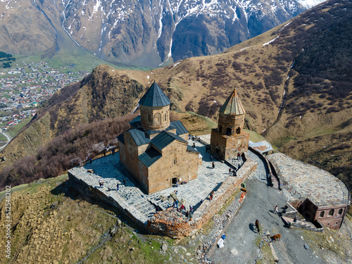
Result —
M85 49L149 67L218 54L306 10L295 0L2 0L0 9L0 50L52 56Z

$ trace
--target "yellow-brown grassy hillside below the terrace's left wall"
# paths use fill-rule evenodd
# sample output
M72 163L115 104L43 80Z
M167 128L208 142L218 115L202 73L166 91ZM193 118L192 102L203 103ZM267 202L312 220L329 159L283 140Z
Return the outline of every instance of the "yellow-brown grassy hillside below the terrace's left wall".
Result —
M196 244L174 242L137 233L116 208L85 200L68 183L68 175L39 180L11 189L11 259L0 263L195 263ZM1 199L4 192L0 193ZM5 199L0 217L5 218ZM123 222L122 222L122 221ZM0 221L2 230L6 222ZM143 233L143 232L142 232ZM5 232L0 246L5 248ZM168 244L168 251L161 245ZM183 251L185 249L186 251ZM189 256L186 253L191 252Z

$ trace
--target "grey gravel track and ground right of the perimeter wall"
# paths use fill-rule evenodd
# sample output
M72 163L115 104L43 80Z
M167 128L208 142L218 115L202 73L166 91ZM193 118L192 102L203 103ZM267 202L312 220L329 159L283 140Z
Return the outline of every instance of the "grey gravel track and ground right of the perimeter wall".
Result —
M273 244L280 263L352 263L351 220L346 219L340 230L326 228L322 233L288 229L273 212L276 204L284 206L286 197L282 191L267 186L263 163L253 153L250 156L258 162L258 169L247 181L248 194L230 224L227 224L227 215L235 210L237 199L214 218L215 228L220 225L222 234L226 234L225 247L210 251L208 263L272 263L274 258L266 232L271 236L282 234L282 239ZM260 222L261 234L256 231L256 219ZM213 239L211 234L208 239ZM308 249L304 248L305 244Z

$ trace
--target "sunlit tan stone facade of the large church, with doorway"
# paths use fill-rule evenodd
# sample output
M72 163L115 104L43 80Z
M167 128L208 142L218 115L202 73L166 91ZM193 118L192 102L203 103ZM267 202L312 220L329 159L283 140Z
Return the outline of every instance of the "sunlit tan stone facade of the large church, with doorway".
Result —
M172 179L194 180L199 154L187 151L187 144L174 141L163 149L163 157L149 167L149 193L172 187Z

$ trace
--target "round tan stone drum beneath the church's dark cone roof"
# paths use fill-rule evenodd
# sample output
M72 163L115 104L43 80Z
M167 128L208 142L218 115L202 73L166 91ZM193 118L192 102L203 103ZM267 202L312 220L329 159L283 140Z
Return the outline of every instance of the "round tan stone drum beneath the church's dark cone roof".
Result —
M163 130L170 125L170 105L141 106L141 123L145 130Z

